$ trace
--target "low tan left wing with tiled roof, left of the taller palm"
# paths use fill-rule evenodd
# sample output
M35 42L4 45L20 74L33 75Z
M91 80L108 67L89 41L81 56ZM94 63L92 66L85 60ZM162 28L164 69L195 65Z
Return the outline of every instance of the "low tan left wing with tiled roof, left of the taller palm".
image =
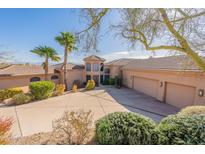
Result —
M49 67L49 79L59 83L59 74ZM9 65L0 69L0 89L27 87L30 82L45 79L45 71L39 65Z

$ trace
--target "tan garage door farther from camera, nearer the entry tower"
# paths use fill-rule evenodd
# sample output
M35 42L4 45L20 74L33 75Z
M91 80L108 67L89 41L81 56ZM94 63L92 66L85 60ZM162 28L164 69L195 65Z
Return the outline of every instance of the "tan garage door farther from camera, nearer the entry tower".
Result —
M158 80L134 77L134 89L156 98L158 95Z

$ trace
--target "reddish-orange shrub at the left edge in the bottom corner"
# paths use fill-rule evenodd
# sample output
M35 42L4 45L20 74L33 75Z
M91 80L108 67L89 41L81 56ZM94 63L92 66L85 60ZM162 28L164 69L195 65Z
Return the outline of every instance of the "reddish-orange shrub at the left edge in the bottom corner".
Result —
M8 144L10 141L10 129L13 124L11 118L0 117L0 145Z

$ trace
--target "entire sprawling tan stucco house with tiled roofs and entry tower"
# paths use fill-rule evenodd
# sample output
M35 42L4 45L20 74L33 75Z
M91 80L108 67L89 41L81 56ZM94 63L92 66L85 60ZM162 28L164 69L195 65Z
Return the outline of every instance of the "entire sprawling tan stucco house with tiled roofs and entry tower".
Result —
M93 79L99 85L103 80L119 76L124 86L178 108L205 105L205 73L185 56L105 61L91 55L84 58L84 65L68 63L68 88L71 89L75 80L85 84ZM63 70L63 64L50 66L50 80L61 83ZM0 89L25 87L39 80L44 80L41 66L10 65L0 69Z

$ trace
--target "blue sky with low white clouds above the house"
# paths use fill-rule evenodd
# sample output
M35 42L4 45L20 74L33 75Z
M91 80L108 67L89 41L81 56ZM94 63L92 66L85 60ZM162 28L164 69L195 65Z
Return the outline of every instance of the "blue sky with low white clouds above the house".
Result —
M61 47L54 37L61 31L76 31L85 28L85 22L79 16L79 9L0 9L0 52L7 52L17 63L41 63L43 59L30 52L34 47L47 45L55 48L63 55ZM113 21L118 21L117 11L113 11L104 21L104 31ZM100 52L78 51L69 56L69 61L82 63L82 59L90 54L96 54L107 60L117 58L149 57L148 51L141 46L129 50L124 40L113 38L112 32L104 34L100 40ZM161 52L157 54L161 55Z

